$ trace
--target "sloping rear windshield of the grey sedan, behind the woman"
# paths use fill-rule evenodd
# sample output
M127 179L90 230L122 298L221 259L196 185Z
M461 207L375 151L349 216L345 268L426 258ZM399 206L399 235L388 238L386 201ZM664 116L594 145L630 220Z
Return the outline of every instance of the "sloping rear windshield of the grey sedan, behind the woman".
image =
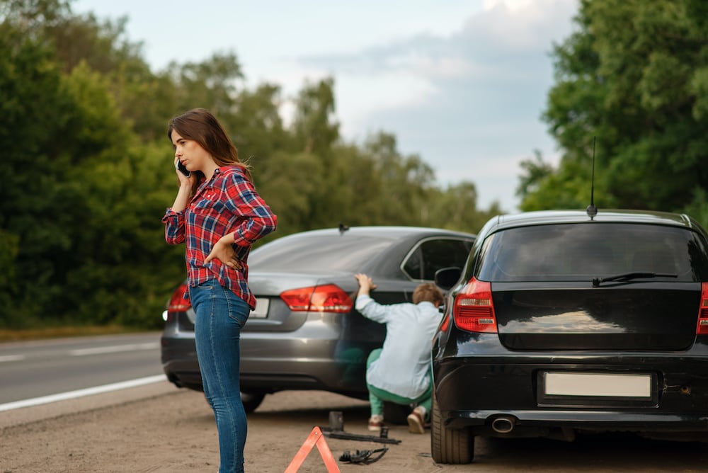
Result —
M393 241L349 233L285 236L254 250L249 266L258 271L358 271Z

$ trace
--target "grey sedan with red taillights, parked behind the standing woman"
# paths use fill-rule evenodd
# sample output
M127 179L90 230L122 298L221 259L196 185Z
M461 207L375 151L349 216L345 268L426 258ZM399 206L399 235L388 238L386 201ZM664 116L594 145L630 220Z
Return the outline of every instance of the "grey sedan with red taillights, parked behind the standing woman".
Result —
M265 394L321 389L367 399L367 355L385 327L353 308L355 273L377 284L382 304L410 302L435 272L462 266L474 234L421 227L341 227L270 241L249 256L257 307L241 331L241 397L246 411ZM161 358L178 387L202 389L194 312L178 287L164 313ZM393 414L393 413L392 413Z

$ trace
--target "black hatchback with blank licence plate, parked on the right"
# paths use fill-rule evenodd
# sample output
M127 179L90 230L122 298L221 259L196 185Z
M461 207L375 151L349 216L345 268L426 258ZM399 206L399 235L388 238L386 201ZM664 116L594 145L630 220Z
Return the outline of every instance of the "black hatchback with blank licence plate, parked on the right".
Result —
M453 287L432 351L436 462L471 462L477 435L707 439L708 236L690 217L495 217L437 280Z

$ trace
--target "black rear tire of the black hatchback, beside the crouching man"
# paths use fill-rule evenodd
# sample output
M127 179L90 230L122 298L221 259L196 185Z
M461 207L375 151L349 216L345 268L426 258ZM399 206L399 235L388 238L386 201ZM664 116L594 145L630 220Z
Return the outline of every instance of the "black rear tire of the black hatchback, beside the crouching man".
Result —
M469 428L445 428L433 389L430 412L430 454L435 463L463 465L474 460L474 435Z

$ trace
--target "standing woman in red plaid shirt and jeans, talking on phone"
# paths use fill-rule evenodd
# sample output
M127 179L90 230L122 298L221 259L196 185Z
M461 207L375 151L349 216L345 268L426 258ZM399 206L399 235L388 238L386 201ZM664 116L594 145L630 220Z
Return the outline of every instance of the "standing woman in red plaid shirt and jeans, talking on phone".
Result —
M189 297L204 394L219 433L219 473L244 471L246 412L241 402L239 338L256 306L249 289L251 245L277 217L253 187L249 166L224 127L195 108L169 122L177 197L162 221L169 244L185 243Z

